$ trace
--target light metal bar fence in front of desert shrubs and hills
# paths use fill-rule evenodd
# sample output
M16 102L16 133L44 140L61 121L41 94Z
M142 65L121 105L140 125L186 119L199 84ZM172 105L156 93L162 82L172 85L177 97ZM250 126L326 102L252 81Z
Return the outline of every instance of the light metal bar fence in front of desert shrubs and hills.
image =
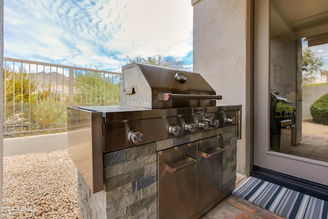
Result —
M67 130L68 106L119 105L121 73L4 58L4 136Z

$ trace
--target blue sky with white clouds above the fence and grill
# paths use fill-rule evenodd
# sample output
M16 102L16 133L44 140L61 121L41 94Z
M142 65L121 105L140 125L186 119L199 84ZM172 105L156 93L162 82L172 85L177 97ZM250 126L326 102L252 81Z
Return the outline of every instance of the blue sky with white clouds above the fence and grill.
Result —
M5 0L4 56L120 71L125 57L192 65L190 0Z

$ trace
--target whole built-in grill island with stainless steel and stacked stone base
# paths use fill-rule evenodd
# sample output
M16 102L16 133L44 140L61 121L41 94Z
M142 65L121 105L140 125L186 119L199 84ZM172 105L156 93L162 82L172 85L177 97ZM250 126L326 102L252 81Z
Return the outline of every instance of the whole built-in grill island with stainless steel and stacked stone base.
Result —
M200 217L235 188L241 106L216 106L196 73L122 74L120 106L68 108L81 217Z

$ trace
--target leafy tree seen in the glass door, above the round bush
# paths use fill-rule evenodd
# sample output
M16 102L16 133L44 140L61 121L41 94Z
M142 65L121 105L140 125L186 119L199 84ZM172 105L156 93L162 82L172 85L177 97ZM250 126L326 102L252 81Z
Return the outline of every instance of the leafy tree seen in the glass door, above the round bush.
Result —
M302 72L303 83L308 82L310 77L313 77L317 71L321 70L323 61L318 53L312 51L309 47L302 48Z

